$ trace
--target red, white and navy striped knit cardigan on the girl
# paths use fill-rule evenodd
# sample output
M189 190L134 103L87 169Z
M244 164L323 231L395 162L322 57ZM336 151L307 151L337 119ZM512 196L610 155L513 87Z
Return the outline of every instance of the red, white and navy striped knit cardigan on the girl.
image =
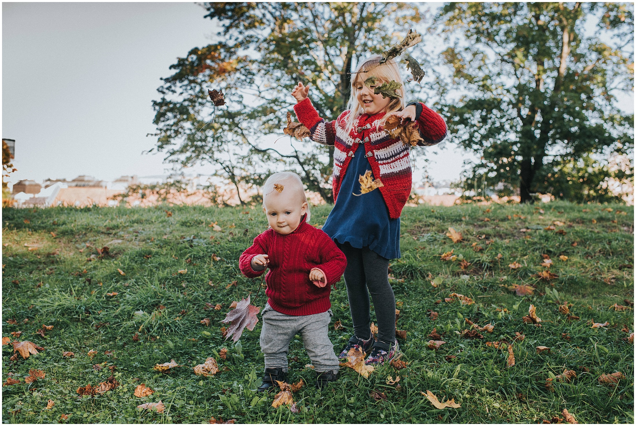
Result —
M389 216L396 219L402 213L406 200L411 195L412 174L410 146L378 126L385 113L362 114L354 123L349 134L345 131L345 121L350 111L340 114L335 121L324 121L318 115L309 98L294 106L298 121L311 132L311 138L324 145L334 145L333 153L333 200L338 198L340 184L347 173L347 167L356 153L359 143L364 143L364 151L371 165L373 177L380 179L384 186L378 188L389 208ZM446 137L446 123L441 116L422 104L422 114L417 119L420 136L431 146Z

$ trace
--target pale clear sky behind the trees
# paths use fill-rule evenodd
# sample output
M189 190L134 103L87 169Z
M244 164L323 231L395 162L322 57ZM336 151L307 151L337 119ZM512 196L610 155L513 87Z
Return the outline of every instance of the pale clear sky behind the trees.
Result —
M177 57L211 43L219 29L204 15L194 3L3 3L8 181L166 174L162 154L142 154L156 141L151 101ZM425 148L429 176L457 180L469 154L443 144Z

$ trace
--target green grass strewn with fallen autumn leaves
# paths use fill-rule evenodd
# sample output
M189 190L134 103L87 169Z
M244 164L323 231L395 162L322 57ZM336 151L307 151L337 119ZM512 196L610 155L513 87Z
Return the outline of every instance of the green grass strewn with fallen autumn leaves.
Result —
M238 258L266 228L259 209L247 210L249 214L233 208L166 206L3 209L3 336L22 331L19 340L45 348L28 359L10 361L11 345L3 346L3 381L8 373L22 379L3 387L3 422L55 423L60 415L71 414L63 422L200 423L215 416L239 423L536 423L567 408L581 423L632 423L634 349L621 328L633 331L633 311L615 312L610 306L633 301L633 208L612 205L608 212L607 207L555 202L491 205L489 212L479 205L404 209L403 258L392 261L391 271L401 310L397 327L407 331L400 345L408 367L395 371L380 366L368 379L343 368L335 386L316 390L314 372L305 369L310 360L297 338L290 346L291 380L310 383L294 394L301 408L297 414L272 408L273 394L252 391L263 369L261 322L243 333L240 345L224 342L219 331L230 303L258 289L259 279L240 275ZM324 223L329 209L312 209L312 224ZM212 221L223 232L212 231ZM565 235L543 230L553 221L565 223L557 226ZM464 242L453 244L445 236L449 226L462 232ZM521 228L531 231L522 233ZM474 251L473 243L483 250ZM25 244L42 246L29 251ZM95 258L103 245L109 245L114 257ZM451 249L471 263L466 270L460 259L439 258ZM219 260L212 261L212 254ZM550 271L558 278L550 282L534 277L545 269L539 266L542 254L554 261ZM522 267L512 270L508 265L513 261ZM186 268L187 273L177 273ZM442 282L433 287L431 280L437 277ZM237 285L226 289L234 280ZM536 290L517 296L506 288L512 284ZM476 303L446 303L452 292ZM558 312L558 301L572 303L570 311L580 320L568 321ZM205 303L223 308L204 310ZM352 330L343 282L332 292L331 303L333 320L344 326L329 331L339 350ZM263 291L254 304L265 305ZM522 322L530 304L537 307L542 327ZM165 308L159 310L160 305ZM429 319L427 309L438 312L438 319ZM204 318L211 320L210 327L200 324ZM17 324L8 324L13 319ZM494 332L484 333L483 340L466 340L459 334L469 328L465 319L480 326L490 322ZM592 321L609 326L593 329ZM46 338L36 334L42 324L54 326ZM427 348L433 328L445 333L447 342L438 351ZM515 332L525 334L525 340L514 343L516 365L507 368L508 351L488 347L486 341L512 341ZM140 337L136 342L135 333ZM540 345L551 352L537 354ZM224 347L226 361L218 357ZM98 354L90 359L88 350ZM104 354L106 350L113 354ZM75 357L63 358L63 351L73 351ZM455 358L446 361L448 355ZM209 356L222 371L209 378L195 376L191 367ZM170 374L153 370L170 359L183 367ZM121 386L94 398L78 397L78 387L97 385L112 374L107 368L93 369L103 362L116 366L114 376ZM43 369L46 377L25 384L31 368ZM576 371L576 379L546 389L546 379L565 368ZM618 386L598 382L600 374L616 371L626 376ZM396 375L400 387L387 385L387 376ZM134 397L139 383L155 394ZM387 399L375 401L373 390ZM461 408L435 409L420 394L426 390L440 400L454 398ZM45 409L48 399L55 401L52 409ZM167 406L163 414L136 409L159 400Z

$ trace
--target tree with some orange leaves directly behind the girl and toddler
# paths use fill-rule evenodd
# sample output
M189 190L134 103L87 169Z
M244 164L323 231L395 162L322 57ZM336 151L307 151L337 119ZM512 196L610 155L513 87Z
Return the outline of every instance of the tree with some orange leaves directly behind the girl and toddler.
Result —
M311 98L326 120L349 100L352 67L387 48L393 31L406 34L420 20L405 3L207 3L206 18L221 27L221 41L193 48L170 66L175 72L153 102L158 141L153 150L188 167L211 163L217 174L259 185L277 166L298 170L311 191L331 200L333 147L296 141L291 152L263 148L259 138L282 135L293 107L291 89L311 83ZM207 90L228 102L214 111ZM152 151L152 150L151 150ZM261 178L256 179L255 176ZM240 193L239 193L240 196ZM241 198L241 203L244 200Z

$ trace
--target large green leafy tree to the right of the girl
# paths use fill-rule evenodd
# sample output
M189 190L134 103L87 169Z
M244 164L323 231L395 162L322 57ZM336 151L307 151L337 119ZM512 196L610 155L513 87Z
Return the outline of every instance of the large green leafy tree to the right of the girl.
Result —
M595 13L598 29L587 36ZM450 3L435 27L453 42L442 55L452 76L440 76L437 90L455 141L481 157L466 182L477 195L593 197L598 179L576 173L572 191L565 175L633 152L633 114L614 105L614 90L633 90L633 53L601 41L633 41L633 4Z

